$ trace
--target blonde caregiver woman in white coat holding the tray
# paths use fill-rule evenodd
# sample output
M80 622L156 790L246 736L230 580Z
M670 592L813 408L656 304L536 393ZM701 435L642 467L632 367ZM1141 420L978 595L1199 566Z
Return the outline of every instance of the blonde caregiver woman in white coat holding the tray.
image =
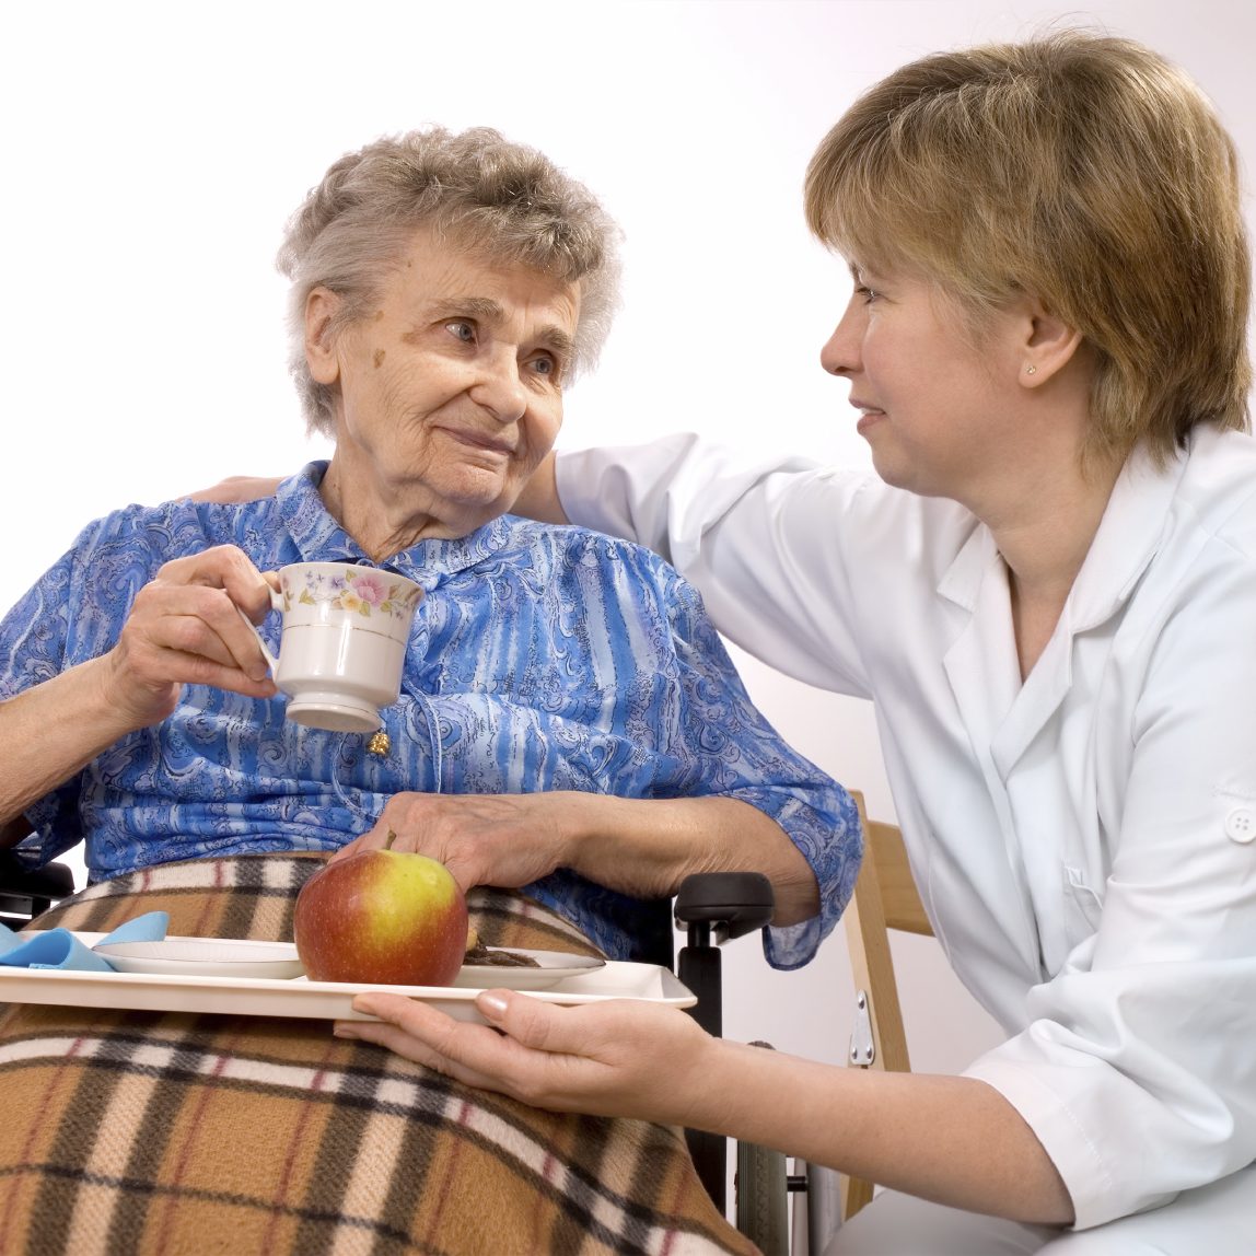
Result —
M690 436L558 461L563 514L666 554L775 667L875 702L917 884L1001 1046L962 1076L862 1073L509 993L481 999L506 1036L378 996L393 1024L342 1031L889 1187L835 1252L1256 1251L1236 170L1201 92L1135 44L927 57L806 177L854 276L821 362L879 479L741 471Z

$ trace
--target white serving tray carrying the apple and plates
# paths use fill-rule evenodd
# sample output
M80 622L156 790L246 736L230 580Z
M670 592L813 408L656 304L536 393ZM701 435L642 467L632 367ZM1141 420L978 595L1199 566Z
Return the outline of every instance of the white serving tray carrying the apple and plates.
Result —
M94 946L103 933L77 933ZM149 1012L221 1012L234 1016L296 1016L311 1020L373 1020L353 1011L354 995L367 990L421 999L455 1020L481 1021L475 1006L480 988L455 986L372 986L305 977L166 976L148 972L82 972L0 966L0 1002L65 1004L73 1007L131 1009ZM597 1004L643 999L692 1007L697 996L667 968L610 960L600 968L565 977L529 999L546 1004Z

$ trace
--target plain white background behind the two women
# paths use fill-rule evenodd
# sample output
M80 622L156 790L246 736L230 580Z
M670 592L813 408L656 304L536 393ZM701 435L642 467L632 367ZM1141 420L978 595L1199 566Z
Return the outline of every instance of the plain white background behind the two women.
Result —
M800 188L862 88L934 49L1098 24L1191 70L1256 165L1241 0L18 8L0 25L0 612L95 515L324 452L285 373L273 257L325 167L382 133L495 126L623 225L625 308L561 446L685 427L847 462L863 443L818 365L847 281ZM744 662L777 727L892 818L869 708ZM916 1068L962 1068L993 1026L932 941L898 956ZM730 1036L842 1059L840 934L799 973L770 973L754 939L727 967Z

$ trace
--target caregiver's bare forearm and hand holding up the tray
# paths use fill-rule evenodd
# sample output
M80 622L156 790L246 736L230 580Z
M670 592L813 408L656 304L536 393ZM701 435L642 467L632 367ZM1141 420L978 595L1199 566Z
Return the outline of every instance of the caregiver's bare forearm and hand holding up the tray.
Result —
M710 1037L683 1012L646 1004L558 1007L492 991L477 999L491 1029L396 996L353 1006L384 1020L340 1022L338 1035L540 1108L708 1129L952 1207L1073 1221L1032 1130L971 1078L815 1064Z

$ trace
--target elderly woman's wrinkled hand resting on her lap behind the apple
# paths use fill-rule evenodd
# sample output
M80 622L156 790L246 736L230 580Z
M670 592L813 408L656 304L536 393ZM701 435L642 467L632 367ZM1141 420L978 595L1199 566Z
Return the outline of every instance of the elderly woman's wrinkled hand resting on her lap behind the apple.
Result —
M575 805L563 793L394 794L376 826L333 859L391 845L438 859L463 891L519 889L564 864Z

